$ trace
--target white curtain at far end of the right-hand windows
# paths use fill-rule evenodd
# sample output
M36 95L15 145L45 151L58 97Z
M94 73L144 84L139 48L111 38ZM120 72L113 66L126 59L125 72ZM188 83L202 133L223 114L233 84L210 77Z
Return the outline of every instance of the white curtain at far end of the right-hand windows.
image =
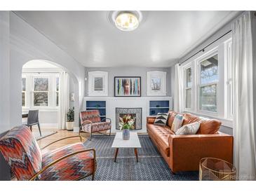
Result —
M183 83L182 69L179 64L175 64L175 90L174 90L174 111L183 111Z

